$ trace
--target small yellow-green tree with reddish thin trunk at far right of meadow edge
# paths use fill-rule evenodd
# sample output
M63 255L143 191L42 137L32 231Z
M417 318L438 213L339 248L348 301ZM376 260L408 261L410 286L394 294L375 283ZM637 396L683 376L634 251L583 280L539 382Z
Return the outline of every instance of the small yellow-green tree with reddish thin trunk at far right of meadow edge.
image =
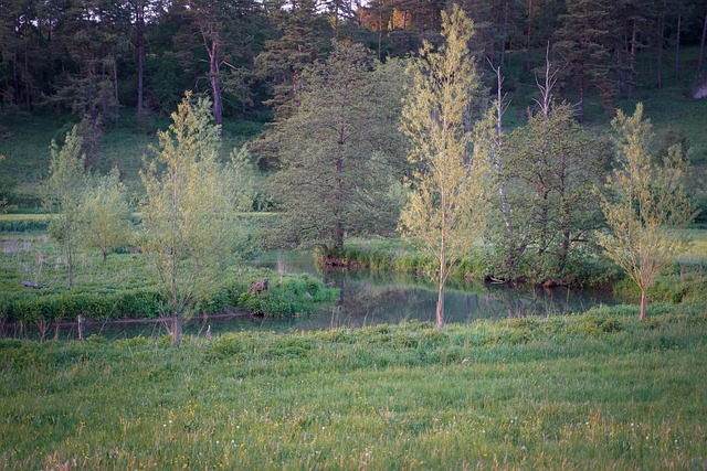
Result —
M642 104L633 116L620 110L612 126L618 165L606 182L609 195L601 199L609 233L600 233L599 243L641 290L643 320L647 289L686 244L671 228L689 224L696 215L682 184L688 162L676 144L662 165L654 163L651 121L643 119Z

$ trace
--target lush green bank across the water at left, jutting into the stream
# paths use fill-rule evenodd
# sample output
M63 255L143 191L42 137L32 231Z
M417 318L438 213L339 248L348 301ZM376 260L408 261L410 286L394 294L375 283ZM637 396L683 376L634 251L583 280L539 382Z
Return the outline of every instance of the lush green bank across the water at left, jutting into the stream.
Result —
M46 331L51 323L75 320L80 314L93 320L155 319L165 314L158 275L135 247L120 247L106 260L95 251L82 250L75 260L74 287L68 289L67 267L59 246L33 226L45 224L46 218L0 215L0 323L22 322L31 329L36 324L40 331ZM236 309L293 315L313 312L338 299L338 290L325 287L313 276L249 266L243 257L256 250L258 234L271 220L270 215L249 213L234 222L232 254L224 255L219 277L200 293L198 313ZM19 232L6 232L3 224L15 224ZM249 296L250 283L264 278L270 278L271 289ZM42 288L25 287L23 281Z

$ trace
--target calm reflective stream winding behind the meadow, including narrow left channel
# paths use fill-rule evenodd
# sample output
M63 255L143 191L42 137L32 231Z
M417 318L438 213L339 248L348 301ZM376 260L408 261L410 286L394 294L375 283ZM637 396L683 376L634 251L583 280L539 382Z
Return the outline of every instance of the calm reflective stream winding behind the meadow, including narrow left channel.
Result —
M325 283L338 287L341 298L335 306L318 313L296 318L261 318L243 313L196 318L184 324L183 332L204 335L209 327L212 333L242 330L289 332L395 324L413 319L434 322L437 293L434 286L424 280L366 271L321 271L317 268L313 255L302 251L270 253L256 259L254 265L281 274L314 274ZM611 291L606 290L528 289L484 283L464 287L450 285L444 299L447 323L531 314L579 313L616 302ZM6 327L4 333L14 338L36 338L36 328L32 327L22 332L18 331L18 327ZM84 330L85 336L97 334L108 340L166 333L165 327L155 321L89 322ZM57 330L46 332L45 335L50 339L75 339L77 330L75 323L66 323Z

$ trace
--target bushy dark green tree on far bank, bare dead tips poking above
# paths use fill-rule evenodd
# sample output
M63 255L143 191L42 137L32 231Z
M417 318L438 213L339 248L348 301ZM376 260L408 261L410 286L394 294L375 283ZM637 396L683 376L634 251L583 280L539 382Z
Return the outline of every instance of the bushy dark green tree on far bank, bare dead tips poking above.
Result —
M556 105L516 128L498 150L487 237L493 275L503 279L577 282L597 250L592 232L602 226L592 190L603 180L605 148ZM503 189L500 192L498 189Z

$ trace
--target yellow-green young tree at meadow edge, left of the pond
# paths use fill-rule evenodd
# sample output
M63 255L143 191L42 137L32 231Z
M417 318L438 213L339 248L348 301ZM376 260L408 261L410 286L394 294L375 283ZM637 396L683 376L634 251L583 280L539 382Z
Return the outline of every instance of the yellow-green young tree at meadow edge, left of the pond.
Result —
M160 131L157 157L140 173L143 250L159 274L171 313L173 345L181 343L181 322L196 298L213 282L226 250L231 214L223 169L218 161L220 127L211 122L210 103L190 94Z

